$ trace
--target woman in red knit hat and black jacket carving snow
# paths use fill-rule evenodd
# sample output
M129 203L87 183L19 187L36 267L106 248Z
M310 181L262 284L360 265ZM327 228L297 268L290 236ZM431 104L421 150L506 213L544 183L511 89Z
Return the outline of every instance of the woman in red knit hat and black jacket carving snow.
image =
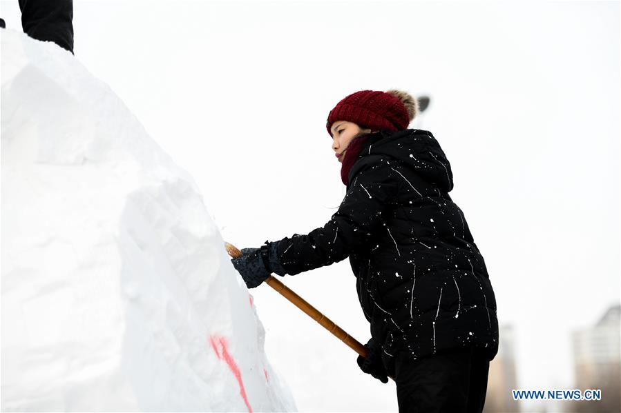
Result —
M481 412L498 349L483 256L452 201L446 155L407 92L361 90L329 112L347 193L323 227L231 260L249 288L350 258L371 324L364 372L397 383L399 412Z

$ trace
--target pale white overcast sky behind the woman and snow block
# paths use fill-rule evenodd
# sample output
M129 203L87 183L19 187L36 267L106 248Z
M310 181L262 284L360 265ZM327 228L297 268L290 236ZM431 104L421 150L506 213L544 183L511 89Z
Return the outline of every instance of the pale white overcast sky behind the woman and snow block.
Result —
M1 6L21 29L17 1ZM76 1L75 57L193 175L238 248L336 211L325 119L339 100L429 94L412 127L452 165L519 386L547 389L572 385L571 332L620 299L619 16L617 1ZM367 341L347 260L283 281ZM267 285L251 292L300 410L396 408L352 350Z

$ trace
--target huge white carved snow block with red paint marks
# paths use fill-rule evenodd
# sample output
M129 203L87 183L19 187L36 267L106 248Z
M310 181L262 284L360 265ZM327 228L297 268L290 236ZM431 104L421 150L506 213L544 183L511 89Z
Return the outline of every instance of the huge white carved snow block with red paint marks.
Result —
M296 410L193 179L69 52L0 36L1 409Z

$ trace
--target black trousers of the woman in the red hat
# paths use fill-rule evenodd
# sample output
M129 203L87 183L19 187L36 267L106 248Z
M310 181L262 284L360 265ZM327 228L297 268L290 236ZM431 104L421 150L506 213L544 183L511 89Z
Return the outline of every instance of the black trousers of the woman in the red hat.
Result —
M479 349L464 347L414 361L397 353L387 370L397 383L399 413L480 413L489 367Z

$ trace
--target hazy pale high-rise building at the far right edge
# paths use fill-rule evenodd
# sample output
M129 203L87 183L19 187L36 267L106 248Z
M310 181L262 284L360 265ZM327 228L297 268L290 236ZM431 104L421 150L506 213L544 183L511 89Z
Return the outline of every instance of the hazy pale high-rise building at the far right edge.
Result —
M602 390L600 401L571 403L573 412L621 412L621 305L592 328L573 332L575 388Z

